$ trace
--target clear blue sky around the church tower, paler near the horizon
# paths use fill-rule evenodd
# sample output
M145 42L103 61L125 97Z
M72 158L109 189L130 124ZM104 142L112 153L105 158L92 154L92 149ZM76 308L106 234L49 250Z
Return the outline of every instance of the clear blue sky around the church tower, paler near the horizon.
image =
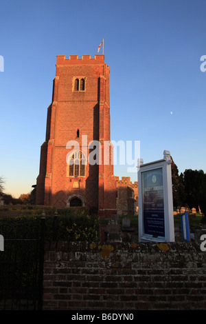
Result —
M94 57L102 39L111 70L111 140L140 141L145 163L169 150L179 172L206 172L205 0L1 0L0 6L5 192L19 197L36 183L56 55ZM137 181L126 165L115 165L114 174Z

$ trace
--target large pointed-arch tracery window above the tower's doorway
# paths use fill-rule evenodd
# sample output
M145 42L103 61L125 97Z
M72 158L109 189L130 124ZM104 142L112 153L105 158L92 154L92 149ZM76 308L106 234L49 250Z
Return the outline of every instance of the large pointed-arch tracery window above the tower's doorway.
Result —
M70 154L67 158L67 176L85 176L86 159L81 151Z

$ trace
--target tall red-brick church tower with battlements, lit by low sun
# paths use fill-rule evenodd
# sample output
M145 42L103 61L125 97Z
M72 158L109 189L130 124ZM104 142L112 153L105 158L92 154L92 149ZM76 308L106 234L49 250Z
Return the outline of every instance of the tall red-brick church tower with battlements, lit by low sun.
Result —
M110 106L104 55L58 55L36 205L85 205L103 217L116 214L113 149L105 143L110 143Z

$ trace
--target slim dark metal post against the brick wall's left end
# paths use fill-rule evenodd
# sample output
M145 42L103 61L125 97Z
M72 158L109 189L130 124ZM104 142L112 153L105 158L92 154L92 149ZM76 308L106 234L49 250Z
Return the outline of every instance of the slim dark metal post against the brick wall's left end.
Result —
M41 232L40 232L40 246L39 246L38 310L43 309L44 247L45 247L45 217L41 217Z

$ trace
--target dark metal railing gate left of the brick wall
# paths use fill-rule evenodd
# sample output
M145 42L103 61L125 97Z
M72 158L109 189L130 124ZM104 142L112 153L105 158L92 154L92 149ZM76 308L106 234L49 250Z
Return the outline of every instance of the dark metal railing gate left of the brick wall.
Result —
M2 221L0 234L0 310L42 310L45 219Z

